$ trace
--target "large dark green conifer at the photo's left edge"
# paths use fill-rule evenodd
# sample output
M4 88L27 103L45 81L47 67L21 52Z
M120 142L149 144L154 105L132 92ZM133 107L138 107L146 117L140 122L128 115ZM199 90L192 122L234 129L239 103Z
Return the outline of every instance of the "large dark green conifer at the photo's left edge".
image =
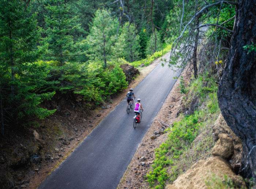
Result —
M5 116L12 116L12 120L24 116L44 118L54 112L38 106L54 92L35 92L44 84L47 72L45 65L34 63L39 30L36 15L25 6L21 0L0 1L1 98L5 108L11 107L11 115Z

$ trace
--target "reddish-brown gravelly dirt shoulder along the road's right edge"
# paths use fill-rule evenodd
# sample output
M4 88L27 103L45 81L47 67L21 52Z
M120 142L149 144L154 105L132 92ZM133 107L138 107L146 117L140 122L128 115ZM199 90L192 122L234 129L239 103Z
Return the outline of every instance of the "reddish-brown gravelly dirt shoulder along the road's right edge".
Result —
M184 71L181 76L183 76L185 83L188 83L190 73ZM177 119L177 113L180 109L182 99L180 89L178 88L179 84L180 80L178 79L142 139L142 143L140 143L138 150L117 186L118 189L150 188L145 176L150 171L151 164L154 160L155 148L158 148L167 138L167 133L161 134L161 129L167 128ZM160 135L158 134L159 131Z

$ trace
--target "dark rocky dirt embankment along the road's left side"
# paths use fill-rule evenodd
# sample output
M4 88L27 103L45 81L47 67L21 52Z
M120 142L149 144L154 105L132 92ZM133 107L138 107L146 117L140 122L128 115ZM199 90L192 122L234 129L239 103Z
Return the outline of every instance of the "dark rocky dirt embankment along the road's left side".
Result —
M138 70L125 66L128 73L128 88L135 87L159 60ZM6 130L0 138L0 188L37 188L37 186L75 149L83 139L107 116L127 90L93 108L82 98L59 95L54 102L46 103L56 113L43 121L37 128L27 126L20 130Z

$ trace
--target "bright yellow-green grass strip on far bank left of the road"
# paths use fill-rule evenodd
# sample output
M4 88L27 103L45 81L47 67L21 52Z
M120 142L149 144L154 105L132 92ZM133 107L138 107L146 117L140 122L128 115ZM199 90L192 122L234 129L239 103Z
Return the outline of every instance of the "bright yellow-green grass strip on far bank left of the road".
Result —
M132 63L129 63L130 65L133 65L134 67L139 67L141 64L144 64L144 66L150 65L155 59L163 56L167 52L169 52L172 48L172 45L168 44L163 48L161 51L157 51L152 55L148 55L147 58L144 58L142 60L134 61Z

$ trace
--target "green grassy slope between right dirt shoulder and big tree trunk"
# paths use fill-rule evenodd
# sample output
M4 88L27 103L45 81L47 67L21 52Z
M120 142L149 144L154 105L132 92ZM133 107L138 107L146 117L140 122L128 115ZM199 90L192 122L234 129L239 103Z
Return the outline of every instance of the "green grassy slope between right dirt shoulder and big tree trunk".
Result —
M188 91L187 101L200 99L200 108L191 115L181 114L180 121L167 129L167 140L155 150L152 170L146 177L156 189L164 188L166 181L173 182L202 155L209 155L214 144L211 124L219 114L214 78L199 76L184 90Z

